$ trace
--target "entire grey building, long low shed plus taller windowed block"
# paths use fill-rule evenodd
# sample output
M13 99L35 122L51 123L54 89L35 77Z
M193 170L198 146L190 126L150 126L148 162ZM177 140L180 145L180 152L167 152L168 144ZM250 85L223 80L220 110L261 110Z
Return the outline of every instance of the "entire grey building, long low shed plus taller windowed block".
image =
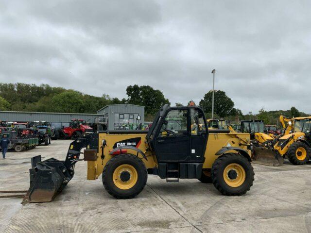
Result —
M108 130L122 129L124 124L143 123L144 107L133 104L106 105L97 114L0 111L0 121L47 121L58 127L68 126L71 119L75 118L84 119L90 124L97 123L100 117L104 118L101 122L107 124Z

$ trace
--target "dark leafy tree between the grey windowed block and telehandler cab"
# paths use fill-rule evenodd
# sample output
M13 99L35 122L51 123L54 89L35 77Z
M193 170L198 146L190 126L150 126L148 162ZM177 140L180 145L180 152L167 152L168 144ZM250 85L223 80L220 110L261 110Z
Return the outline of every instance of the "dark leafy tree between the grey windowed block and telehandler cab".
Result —
M129 97L127 103L145 106L146 114L155 114L164 104L171 104L165 99L160 90L155 90L151 86L128 86L126 94Z

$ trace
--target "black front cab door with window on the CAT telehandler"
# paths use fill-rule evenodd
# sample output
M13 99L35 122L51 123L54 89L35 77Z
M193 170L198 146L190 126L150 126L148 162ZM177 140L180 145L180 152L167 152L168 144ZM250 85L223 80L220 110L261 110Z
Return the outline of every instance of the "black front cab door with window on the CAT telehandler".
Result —
M189 160L189 131L188 109L169 110L155 132L154 146L158 163Z

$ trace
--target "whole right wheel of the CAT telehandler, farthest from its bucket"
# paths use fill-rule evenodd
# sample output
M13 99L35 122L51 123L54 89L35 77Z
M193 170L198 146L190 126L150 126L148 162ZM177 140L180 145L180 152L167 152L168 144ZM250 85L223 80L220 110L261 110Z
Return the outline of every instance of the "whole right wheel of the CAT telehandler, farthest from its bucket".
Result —
M227 196L239 196L250 190L254 169L242 155L227 153L215 160L211 169L215 188Z

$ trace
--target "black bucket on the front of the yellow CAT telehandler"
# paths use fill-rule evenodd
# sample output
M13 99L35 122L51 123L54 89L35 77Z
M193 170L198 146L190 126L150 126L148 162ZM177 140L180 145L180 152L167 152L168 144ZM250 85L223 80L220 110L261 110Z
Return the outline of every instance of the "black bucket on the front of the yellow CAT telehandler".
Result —
M51 158L41 162L41 156L32 158L30 187L23 199L27 202L50 202L71 180L64 161Z

